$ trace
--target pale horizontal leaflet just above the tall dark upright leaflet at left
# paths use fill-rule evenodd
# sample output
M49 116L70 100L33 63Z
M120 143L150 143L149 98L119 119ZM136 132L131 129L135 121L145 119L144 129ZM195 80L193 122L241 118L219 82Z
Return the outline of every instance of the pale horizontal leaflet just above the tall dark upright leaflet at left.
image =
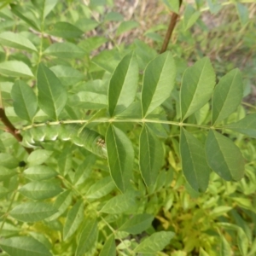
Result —
M50 44L44 51L45 55L53 55L59 58L83 58L84 50L79 48L77 45L64 42Z

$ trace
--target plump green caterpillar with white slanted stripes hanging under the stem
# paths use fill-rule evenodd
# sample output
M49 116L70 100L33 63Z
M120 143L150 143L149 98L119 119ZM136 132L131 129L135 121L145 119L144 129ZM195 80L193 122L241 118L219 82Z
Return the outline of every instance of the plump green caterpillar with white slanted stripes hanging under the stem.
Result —
M96 131L88 128L83 128L83 130L80 131L82 127L83 126L77 124L42 125L32 127L24 132L22 143L26 147L35 148L42 142L55 141L56 139L62 141L70 140L75 145L83 147L91 153L105 158L107 156L107 149L103 137ZM37 154L35 152L32 154ZM30 156L30 158L32 158L32 156ZM37 162L35 162L35 164L38 165Z

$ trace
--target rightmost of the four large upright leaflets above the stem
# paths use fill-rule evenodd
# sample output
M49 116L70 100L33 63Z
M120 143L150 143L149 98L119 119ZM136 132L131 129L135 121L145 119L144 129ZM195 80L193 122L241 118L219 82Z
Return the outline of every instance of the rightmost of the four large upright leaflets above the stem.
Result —
M233 69L221 78L212 99L212 125L230 116L240 105L243 84L239 69Z

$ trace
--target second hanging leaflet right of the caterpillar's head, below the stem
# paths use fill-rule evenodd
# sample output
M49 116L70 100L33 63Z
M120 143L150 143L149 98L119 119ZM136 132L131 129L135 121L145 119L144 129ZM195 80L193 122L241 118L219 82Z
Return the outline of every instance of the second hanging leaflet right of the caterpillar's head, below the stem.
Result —
M164 159L163 146L147 125L143 125L139 144L139 166L147 186L155 183Z

